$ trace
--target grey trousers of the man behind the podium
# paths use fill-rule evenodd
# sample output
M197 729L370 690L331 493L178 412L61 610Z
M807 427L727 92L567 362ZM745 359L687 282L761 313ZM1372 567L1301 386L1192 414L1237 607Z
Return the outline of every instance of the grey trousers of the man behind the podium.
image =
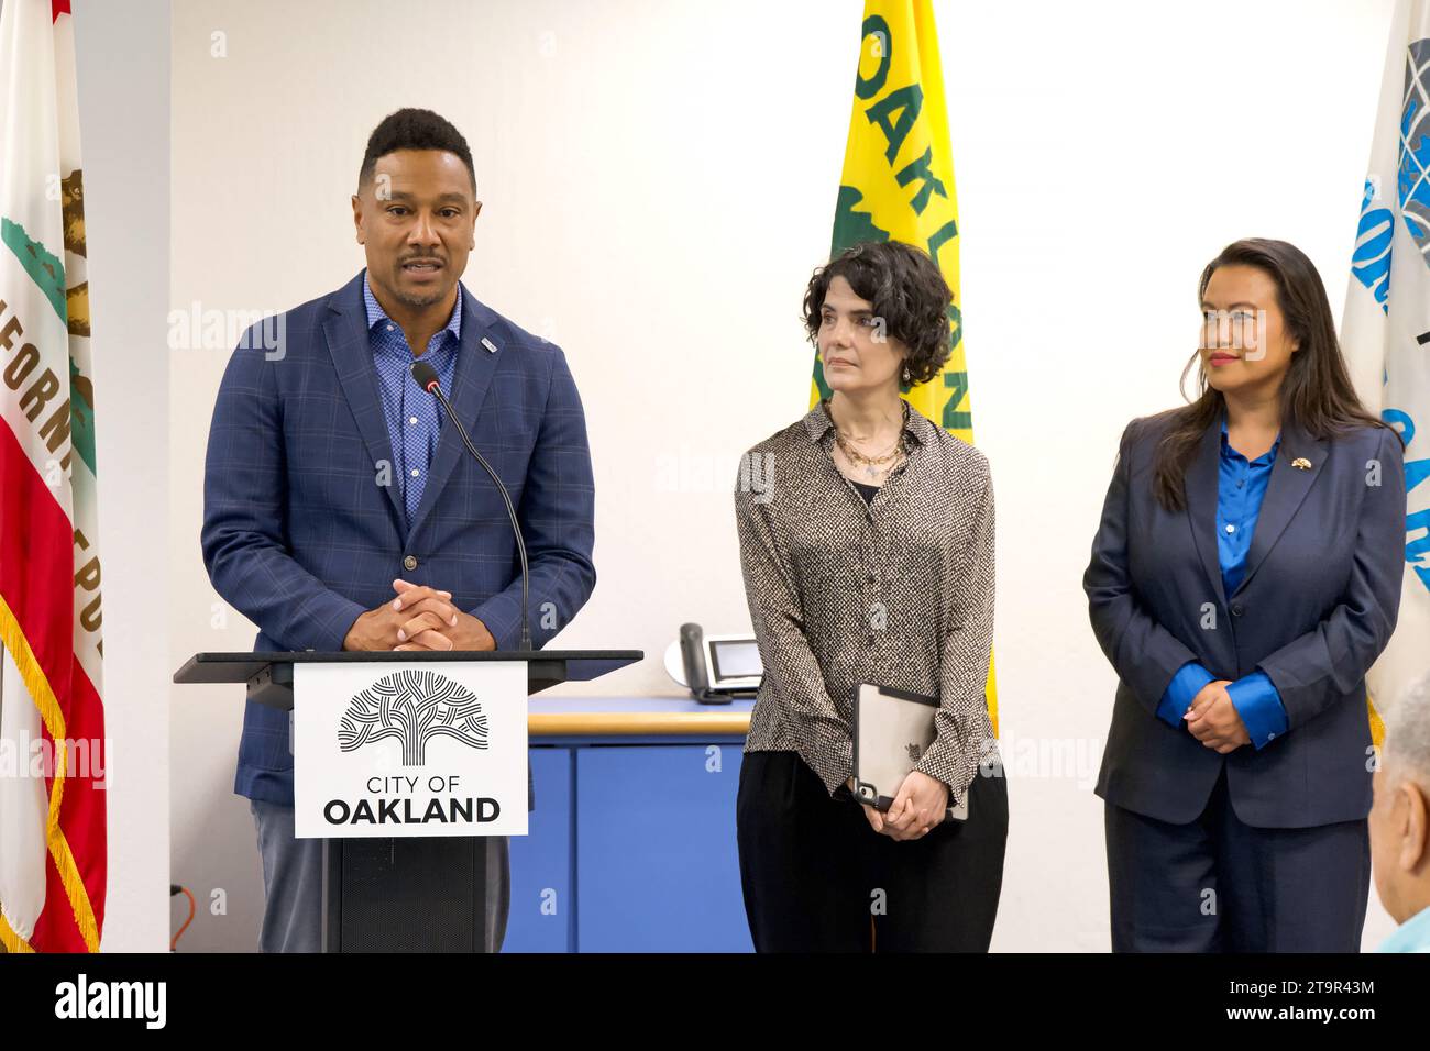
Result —
M293 808L249 799L263 858L263 952L323 951L323 839L293 835ZM486 845L486 951L500 952L512 905L511 855L505 835Z

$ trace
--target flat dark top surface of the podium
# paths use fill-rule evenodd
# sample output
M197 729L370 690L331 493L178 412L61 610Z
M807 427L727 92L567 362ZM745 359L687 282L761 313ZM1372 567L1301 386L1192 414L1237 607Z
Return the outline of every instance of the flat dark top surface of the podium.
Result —
M595 679L606 672L645 659L639 649L445 649L445 651L283 651L272 653L194 653L174 672L174 682L247 682L276 663L450 663L453 661L523 661L526 663L562 663L566 681Z

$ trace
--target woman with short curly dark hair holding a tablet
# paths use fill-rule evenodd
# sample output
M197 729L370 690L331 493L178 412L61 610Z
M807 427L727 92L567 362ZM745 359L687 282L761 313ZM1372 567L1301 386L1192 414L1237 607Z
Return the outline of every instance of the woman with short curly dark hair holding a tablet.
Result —
M984 698L992 483L982 453L901 398L948 360L950 302L934 260L898 242L817 270L805 325L832 393L741 466L765 669L736 804L758 951L987 951L992 937L1008 828ZM935 739L887 812L851 792L859 684L937 699Z

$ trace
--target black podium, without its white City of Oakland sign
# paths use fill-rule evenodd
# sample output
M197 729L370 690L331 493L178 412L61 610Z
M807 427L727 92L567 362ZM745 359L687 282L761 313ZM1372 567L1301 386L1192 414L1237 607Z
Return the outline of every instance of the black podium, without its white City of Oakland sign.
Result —
M443 663L522 662L531 696L568 679L595 679L644 656L636 649L194 653L174 672L173 681L242 682L250 701L292 711L295 665L440 668ZM490 934L486 919L489 864L488 837L480 835L327 838L323 849L325 951L483 951Z

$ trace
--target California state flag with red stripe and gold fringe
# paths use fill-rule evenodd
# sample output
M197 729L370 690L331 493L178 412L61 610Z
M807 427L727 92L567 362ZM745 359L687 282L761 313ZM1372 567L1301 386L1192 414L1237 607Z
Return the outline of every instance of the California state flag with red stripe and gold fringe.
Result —
M69 0L0 9L0 944L97 951L104 711Z

